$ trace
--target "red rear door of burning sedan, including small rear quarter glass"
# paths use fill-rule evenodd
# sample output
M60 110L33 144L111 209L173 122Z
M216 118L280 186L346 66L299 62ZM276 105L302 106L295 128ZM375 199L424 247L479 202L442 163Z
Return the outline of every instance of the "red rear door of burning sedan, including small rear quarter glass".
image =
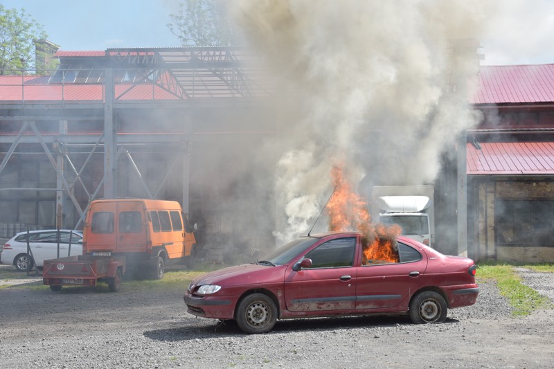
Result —
M358 270L356 309L386 309L404 301L421 287L427 257L411 246L397 243L400 262L362 265Z

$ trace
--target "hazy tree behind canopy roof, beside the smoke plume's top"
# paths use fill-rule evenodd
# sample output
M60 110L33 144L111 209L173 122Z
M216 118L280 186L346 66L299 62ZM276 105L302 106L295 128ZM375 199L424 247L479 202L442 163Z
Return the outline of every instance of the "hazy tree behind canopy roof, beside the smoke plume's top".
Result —
M168 27L182 46L237 46L240 36L227 4L224 0L182 1L179 12L170 15Z

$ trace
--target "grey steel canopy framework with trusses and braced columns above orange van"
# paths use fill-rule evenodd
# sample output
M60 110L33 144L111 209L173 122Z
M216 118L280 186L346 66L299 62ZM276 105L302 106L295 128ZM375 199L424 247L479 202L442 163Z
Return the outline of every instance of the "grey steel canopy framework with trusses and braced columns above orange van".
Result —
M98 194L104 198L119 196L118 163L133 168L144 197L156 198L169 173L159 176L157 185L148 185L136 161L145 147L171 153L166 155L171 158L168 172L180 166L183 206L187 209L194 111L252 106L254 101L260 102L259 98L271 96L271 80L244 48L110 48L58 51L55 56L60 66L49 76L0 78L0 125L9 127L0 136L0 145L6 147L0 176L10 159L27 150L20 145L35 145L35 154L46 155L55 170L57 184L56 188L34 190L55 190L56 225L60 228L78 227L89 202ZM175 112L171 119L179 123L179 131L158 131L155 120L145 132L126 132L121 126L122 117L129 112L144 111L139 113L142 118L161 114L166 108ZM80 127L79 132L69 128L75 126ZM72 159L75 152L88 152L80 168ZM98 155L103 156L103 177L91 187L84 183L82 174L89 170L91 158ZM86 195L87 204L75 197L77 186ZM64 224L66 198L78 214L77 224Z

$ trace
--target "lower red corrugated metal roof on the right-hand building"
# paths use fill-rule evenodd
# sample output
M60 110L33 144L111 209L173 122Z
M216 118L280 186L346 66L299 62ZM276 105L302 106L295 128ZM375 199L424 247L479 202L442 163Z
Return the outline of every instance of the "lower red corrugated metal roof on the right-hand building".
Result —
M467 174L554 174L554 142L467 144Z

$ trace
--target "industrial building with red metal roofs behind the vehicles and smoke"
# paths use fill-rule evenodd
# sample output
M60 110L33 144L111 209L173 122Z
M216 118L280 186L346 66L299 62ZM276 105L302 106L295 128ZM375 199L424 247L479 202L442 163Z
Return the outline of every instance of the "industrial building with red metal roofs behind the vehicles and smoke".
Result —
M0 76L0 237L82 228L92 199L144 197L179 201L199 242L274 245L271 190L249 187L253 152L281 134L259 124L274 82L255 55L53 51L55 71ZM458 150L465 173L436 183L437 228L467 226L467 246L440 249L458 240L438 237L438 249L553 262L554 64L481 66L468 103L483 121L467 131L463 157ZM467 183L461 202L459 183Z

